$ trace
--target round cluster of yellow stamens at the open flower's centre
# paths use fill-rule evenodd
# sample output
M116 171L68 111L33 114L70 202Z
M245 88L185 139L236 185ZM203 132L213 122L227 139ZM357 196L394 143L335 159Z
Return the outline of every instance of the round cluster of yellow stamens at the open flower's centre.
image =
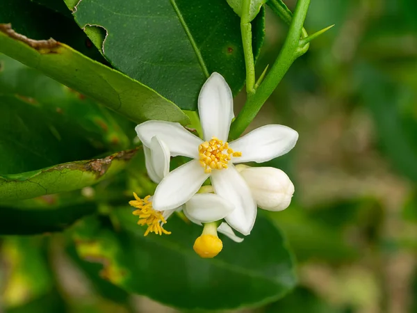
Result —
M199 162L204 168L204 172L210 173L211 170L222 170L227 168L231 157L242 157L242 152L234 152L229 147L229 143L223 143L218 138L211 138L211 141L204 141L198 146Z

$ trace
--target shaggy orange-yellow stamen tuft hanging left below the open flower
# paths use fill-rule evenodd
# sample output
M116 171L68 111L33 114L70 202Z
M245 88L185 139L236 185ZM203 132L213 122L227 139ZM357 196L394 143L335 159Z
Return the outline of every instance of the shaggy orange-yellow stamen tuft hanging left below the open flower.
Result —
M149 232L154 232L155 234L171 234L167 230L163 229L162 223L167 223L165 218L162 215L161 211L156 211L152 207L152 201L150 195L147 195L145 198L140 199L136 193L133 193L136 200L129 201L129 204L132 207L136 207L137 210L133 211L132 214L139 216L138 225L147 225L147 230L144 236L147 236Z

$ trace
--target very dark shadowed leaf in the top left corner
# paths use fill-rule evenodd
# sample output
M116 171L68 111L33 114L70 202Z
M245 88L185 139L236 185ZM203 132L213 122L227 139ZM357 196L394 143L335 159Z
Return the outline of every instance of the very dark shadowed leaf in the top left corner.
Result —
M74 22L70 10L62 0L38 1L50 5L51 9L31 0L0 1L0 23L11 23L17 33L35 40L54 38L89 58L106 63L99 49L92 45L90 39ZM57 13L57 10L65 12L66 15Z

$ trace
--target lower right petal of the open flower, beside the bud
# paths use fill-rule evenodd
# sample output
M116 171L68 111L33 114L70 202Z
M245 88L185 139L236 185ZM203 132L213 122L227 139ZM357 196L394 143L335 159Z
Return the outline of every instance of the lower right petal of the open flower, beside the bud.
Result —
M256 203L243 177L229 163L229 168L211 172L211 182L215 193L235 206L224 218L227 223L244 235L250 234L256 218Z

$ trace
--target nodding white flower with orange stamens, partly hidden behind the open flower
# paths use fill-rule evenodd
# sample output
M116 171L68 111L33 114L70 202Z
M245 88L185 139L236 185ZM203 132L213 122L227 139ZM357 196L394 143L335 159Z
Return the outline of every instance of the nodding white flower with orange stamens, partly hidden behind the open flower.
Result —
M158 184L170 170L170 151L168 150L167 145L163 141L160 141L156 136L152 138L149 147L144 146L143 149L145 152L145 165L148 175ZM138 215L139 217L142 214L144 205L149 204L147 207L148 213L142 215L147 217L142 218L140 223L142 225L148 225L150 222L150 225L148 225L149 232L157 230L158 234L167 233L167 231L163 229L163 224L166 223L167 218L169 218L174 211L183 210L183 213L193 223L202 225L202 223L211 223L216 220L221 220L224 216L227 216L227 214L234 210L233 204L213 193L197 193L180 207L164 211L157 211L154 209L152 203L154 200L153 197L142 200L135 194L135 198L136 201L133 200L132 203L136 205L132 205L139 209L135 211L135 215ZM231 230L227 224L220 225L218 230L236 242L243 241L243 239L234 234L233 230Z

